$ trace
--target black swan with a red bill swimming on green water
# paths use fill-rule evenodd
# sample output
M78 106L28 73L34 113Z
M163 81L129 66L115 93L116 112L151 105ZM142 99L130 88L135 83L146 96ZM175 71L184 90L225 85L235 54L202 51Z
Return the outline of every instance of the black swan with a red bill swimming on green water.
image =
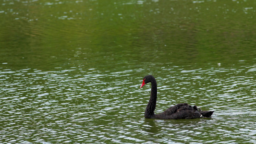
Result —
M157 104L157 81L152 75L146 75L140 88L151 83L151 94L145 110L145 118L147 119L196 119L202 117L211 117L214 111L201 111L196 106L190 106L186 103L177 104L167 108L164 112L155 114L154 110Z

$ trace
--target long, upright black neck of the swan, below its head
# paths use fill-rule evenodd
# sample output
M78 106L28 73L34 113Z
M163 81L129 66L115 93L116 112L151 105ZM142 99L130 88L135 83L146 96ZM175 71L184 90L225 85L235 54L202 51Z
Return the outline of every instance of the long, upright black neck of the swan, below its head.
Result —
M157 81L153 79L151 81L151 94L145 110L145 118L152 118L155 115L154 110L157 105Z

